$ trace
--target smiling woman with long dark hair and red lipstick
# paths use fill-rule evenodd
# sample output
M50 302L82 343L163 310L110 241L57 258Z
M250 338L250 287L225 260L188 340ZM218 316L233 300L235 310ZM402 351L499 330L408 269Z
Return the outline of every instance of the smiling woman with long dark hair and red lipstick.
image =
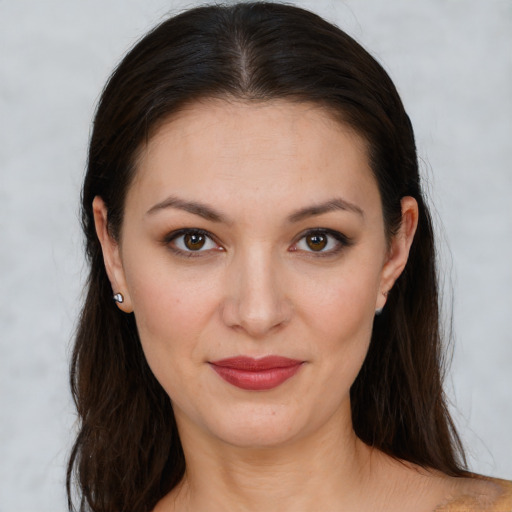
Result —
M165 21L105 88L82 207L81 510L511 509L444 400L409 118L345 33Z

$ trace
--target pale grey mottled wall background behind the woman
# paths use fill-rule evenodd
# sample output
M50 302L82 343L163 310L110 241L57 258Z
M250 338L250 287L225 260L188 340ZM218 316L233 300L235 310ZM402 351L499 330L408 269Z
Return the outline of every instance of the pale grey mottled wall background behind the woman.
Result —
M454 415L471 468L512 479L512 2L295 3L362 42L398 86L454 288ZM121 55L194 5L0 0L0 512L65 509L90 121Z

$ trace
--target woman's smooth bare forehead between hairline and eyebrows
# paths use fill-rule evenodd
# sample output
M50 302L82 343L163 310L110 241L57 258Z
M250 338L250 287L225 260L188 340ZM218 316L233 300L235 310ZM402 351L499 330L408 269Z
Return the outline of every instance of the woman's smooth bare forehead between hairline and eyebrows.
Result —
M129 200L173 194L275 208L341 194L380 203L365 141L309 103L192 104L156 130L136 169Z

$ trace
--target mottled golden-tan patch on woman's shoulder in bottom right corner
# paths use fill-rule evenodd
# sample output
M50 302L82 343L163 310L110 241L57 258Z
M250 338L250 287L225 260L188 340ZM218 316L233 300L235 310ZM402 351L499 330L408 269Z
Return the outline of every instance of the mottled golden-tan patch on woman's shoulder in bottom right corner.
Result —
M480 475L459 479L434 512L512 512L512 482Z

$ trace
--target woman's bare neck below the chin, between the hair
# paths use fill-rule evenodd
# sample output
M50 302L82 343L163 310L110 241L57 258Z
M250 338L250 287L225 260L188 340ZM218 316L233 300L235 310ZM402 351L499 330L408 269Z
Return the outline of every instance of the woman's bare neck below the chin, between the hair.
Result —
M333 504L352 509L367 488L372 451L350 422L331 423L300 440L264 448L229 445L187 425L181 429L187 471L169 497L169 510L298 512L332 510Z

